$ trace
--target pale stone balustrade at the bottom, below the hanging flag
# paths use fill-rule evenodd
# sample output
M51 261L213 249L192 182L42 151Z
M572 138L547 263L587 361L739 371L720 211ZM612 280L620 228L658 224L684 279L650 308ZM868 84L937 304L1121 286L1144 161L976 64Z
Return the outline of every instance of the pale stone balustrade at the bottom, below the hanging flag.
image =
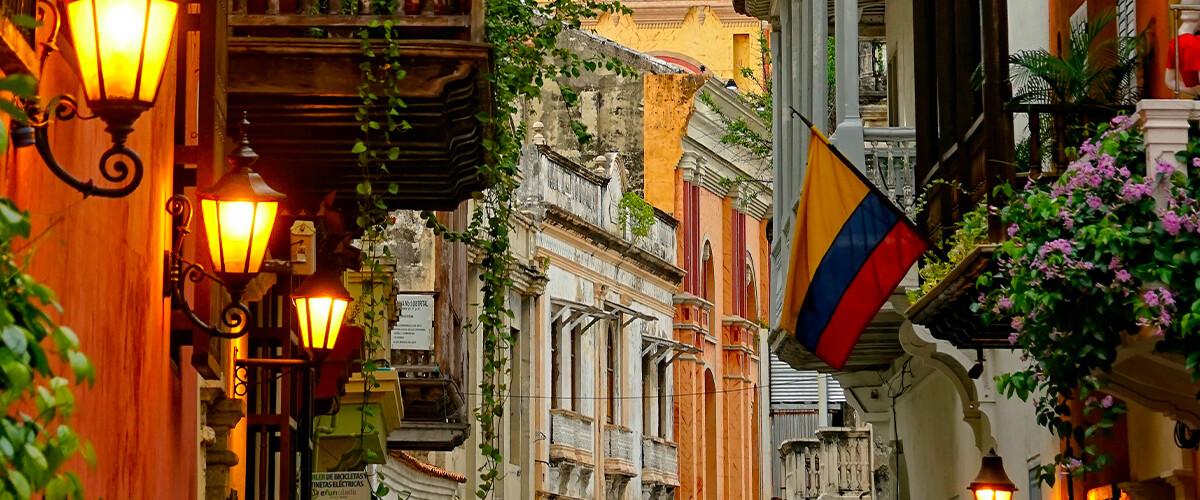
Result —
M875 490L870 430L823 428L816 438L785 441L779 452L790 500L859 498Z

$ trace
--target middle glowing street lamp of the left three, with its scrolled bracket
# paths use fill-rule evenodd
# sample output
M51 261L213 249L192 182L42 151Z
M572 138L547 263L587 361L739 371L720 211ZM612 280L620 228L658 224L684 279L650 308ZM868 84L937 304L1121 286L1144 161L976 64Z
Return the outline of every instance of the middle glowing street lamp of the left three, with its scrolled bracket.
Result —
M242 118L238 132L238 149L227 158L233 169L211 188L200 191L200 210L204 216L204 233L209 240L209 253L216 276L204 271L199 264L182 259L184 236L192 218L192 204L187 197L175 194L167 201L167 212L181 217L176 227L174 251L168 254L167 289L180 305L184 314L210 336L238 338L246 335L250 307L241 302L246 284L258 275L266 253L266 241L283 193L271 189L263 177L250 168L258 155L250 149L246 131L250 122ZM184 300L184 281L198 283L210 278L229 291L229 305L221 309L221 325L209 325L192 311Z

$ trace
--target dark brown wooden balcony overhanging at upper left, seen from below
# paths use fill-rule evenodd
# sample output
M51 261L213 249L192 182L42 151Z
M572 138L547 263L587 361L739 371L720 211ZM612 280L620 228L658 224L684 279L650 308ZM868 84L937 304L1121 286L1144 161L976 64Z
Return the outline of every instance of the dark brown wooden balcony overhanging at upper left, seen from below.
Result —
M289 200L316 206L336 191L340 205L354 206L362 174L350 150L364 137L355 114L362 103L359 66L366 60L354 34L391 22L407 72L400 80L407 106L392 119L412 129L392 133L389 146L400 156L389 173L377 173L376 183L400 186L385 195L391 207L454 209L485 187L475 171L486 133L475 115L490 107L481 74L488 59L480 42L482 6L420 0L394 16L344 13L371 5L359 1L331 0L325 7L312 0L233 1L224 19L228 114L248 113L259 169ZM377 113L384 122L384 112Z

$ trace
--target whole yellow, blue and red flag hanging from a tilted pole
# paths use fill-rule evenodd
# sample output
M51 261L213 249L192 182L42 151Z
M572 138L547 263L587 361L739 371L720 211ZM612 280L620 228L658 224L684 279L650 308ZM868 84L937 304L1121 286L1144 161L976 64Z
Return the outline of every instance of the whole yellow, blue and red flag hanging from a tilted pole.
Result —
M821 361L842 369L929 242L811 128L781 325Z

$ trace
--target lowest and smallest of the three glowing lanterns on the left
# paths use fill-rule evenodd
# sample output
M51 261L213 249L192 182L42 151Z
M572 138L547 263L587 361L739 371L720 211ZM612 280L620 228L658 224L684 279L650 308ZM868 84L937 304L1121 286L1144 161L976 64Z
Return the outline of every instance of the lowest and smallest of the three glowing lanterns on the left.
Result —
M300 342L313 360L334 349L350 301L342 278L328 266L319 267L292 294Z

